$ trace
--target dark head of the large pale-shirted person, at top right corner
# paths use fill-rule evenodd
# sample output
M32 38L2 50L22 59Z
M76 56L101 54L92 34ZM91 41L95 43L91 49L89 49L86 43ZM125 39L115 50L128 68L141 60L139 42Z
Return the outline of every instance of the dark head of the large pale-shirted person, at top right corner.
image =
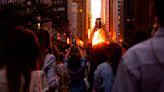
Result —
M154 6L155 6L155 13L156 16L159 18L159 23L164 26L164 13L162 12L162 9L164 9L164 0L154 0Z

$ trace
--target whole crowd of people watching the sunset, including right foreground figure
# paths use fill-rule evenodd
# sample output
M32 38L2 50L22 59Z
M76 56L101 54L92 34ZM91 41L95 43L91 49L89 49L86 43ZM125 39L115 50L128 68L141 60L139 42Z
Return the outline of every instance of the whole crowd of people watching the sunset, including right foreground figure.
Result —
M0 92L163 92L163 3L154 1L158 30L129 49L110 42L63 52L48 30L8 28L0 40Z

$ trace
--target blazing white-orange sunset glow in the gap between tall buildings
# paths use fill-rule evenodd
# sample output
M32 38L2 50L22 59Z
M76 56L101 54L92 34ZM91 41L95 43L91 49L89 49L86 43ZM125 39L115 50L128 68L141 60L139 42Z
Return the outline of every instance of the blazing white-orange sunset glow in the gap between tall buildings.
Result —
M95 41L100 41L101 39L103 39L101 41L111 39L109 32L111 31L111 23L113 23L113 21L110 16L112 14L112 12L110 12L110 1L111 0L88 0L88 42L92 42L92 38L94 38ZM95 26L96 19L99 18L101 20L100 29L102 29L102 31L96 31L93 35L92 30ZM95 37L97 39L95 39Z

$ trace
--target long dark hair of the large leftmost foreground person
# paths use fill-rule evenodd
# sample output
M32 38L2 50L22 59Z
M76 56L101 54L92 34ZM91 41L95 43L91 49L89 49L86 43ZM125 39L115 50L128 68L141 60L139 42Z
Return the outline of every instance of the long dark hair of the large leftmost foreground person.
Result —
M16 27L8 33L5 51L9 92L20 91L22 75L25 80L23 92L28 92L31 71L36 69L38 55L36 37L31 30Z

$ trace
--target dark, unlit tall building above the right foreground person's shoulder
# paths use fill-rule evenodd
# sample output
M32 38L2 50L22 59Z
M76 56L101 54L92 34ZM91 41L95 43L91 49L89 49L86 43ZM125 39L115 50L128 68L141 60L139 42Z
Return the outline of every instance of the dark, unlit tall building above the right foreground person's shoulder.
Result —
M151 14L153 0L124 0L124 14L121 16L124 21L124 38L136 31L144 31L152 28L154 18ZM122 29L121 28L121 29Z

